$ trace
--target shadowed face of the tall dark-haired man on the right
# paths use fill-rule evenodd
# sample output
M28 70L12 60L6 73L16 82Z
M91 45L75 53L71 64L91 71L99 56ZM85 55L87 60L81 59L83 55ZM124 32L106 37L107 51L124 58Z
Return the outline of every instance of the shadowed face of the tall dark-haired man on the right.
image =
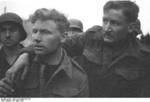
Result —
M122 10L110 9L104 12L103 30L104 42L113 43L123 40L128 35L129 23Z

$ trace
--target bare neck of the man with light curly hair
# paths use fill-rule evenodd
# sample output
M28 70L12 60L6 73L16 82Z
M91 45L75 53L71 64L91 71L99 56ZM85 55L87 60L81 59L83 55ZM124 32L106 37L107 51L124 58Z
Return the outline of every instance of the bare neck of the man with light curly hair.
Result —
M54 53L47 54L42 56L44 63L48 65L57 65L62 58L62 48L57 49Z

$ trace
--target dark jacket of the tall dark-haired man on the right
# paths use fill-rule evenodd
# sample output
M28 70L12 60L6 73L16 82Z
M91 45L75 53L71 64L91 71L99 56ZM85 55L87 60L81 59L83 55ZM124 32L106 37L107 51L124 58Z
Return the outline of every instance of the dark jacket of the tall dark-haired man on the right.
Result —
M90 96L146 96L145 92L150 91L146 88L150 85L150 51L132 36L113 46L104 43L102 38L93 39L97 33L101 35L94 29L64 43L70 55L78 55L76 61L87 72ZM81 52L70 52L69 49Z

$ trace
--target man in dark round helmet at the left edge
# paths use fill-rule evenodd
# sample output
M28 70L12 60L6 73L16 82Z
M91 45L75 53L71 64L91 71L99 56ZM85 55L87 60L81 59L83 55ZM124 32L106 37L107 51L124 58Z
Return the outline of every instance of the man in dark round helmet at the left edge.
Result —
M0 79L15 62L25 40L26 32L23 28L22 19L15 13L5 13L0 16Z

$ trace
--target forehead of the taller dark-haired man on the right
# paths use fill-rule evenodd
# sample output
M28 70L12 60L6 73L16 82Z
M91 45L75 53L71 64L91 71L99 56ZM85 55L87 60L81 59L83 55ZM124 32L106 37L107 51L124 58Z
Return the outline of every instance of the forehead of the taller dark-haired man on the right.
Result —
M123 10L109 9L104 12L104 18L117 21L126 21L126 17L123 14Z

